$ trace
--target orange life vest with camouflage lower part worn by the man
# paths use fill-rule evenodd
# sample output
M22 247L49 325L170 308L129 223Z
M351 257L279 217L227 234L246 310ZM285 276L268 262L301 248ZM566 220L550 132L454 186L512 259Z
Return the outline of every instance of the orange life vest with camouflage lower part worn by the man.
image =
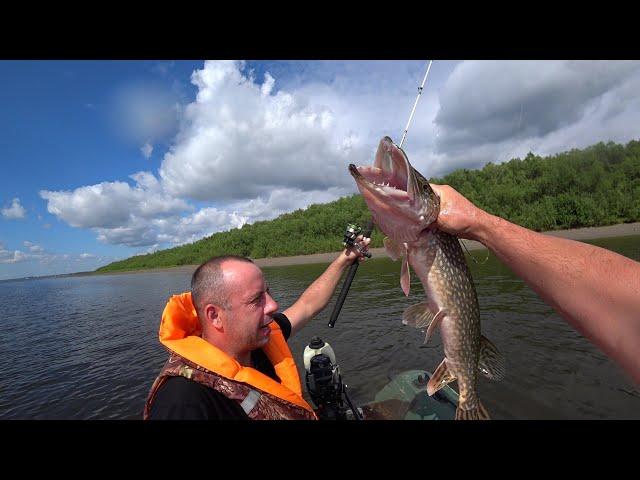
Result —
M261 405L260 402L262 402L265 404L265 410L274 410L274 405L269 407L266 404L280 403L281 405L278 405L276 410L280 412L278 415L281 415L283 405L293 404L291 406L298 408L293 409L296 410L297 413L291 415L291 418L301 418L300 409L307 411L302 412L302 417L316 418L313 408L311 408L302 397L302 387L298 369L280 326L277 322L271 322L269 327L271 328L271 335L268 343L262 347L262 350L273 365L281 383L278 383L276 380L254 368L240 365L233 357L200 337L202 333L200 322L198 321L196 309L191 301L190 292L173 295L167 302L160 323L159 339L160 343L172 352L174 359L180 359L181 357L187 360L186 365L191 364L195 366L199 371L198 373L200 373L200 375L185 374L185 367L180 366L178 370L181 375L188 376L188 378L192 378L195 381L200 381L200 383L204 383L212 388L216 388L219 382L212 382L210 377L206 377L207 373L223 377L226 380L225 383L227 386L229 385L229 381L232 383L246 384L262 394L260 401L258 402L256 400L257 403L255 403L258 407ZM171 361L172 359L170 358L170 362ZM204 380L201 381L203 378L202 373L205 374L205 377ZM171 374L175 373L169 373L169 375ZM154 387L152 387L152 391L147 400L148 405L153 401L155 391L162 383L159 382L162 376L163 374L161 373L154 383ZM248 389L245 390L250 392ZM228 389L221 388L219 391L226 394ZM255 392L253 395L255 397ZM232 397L234 400L241 400L237 395ZM245 401L245 404L246 403ZM147 416L147 413L148 406L145 408L145 416ZM249 416L252 417L251 414L249 414ZM285 417L286 416L285 414ZM260 418L260 415L258 415L258 418Z

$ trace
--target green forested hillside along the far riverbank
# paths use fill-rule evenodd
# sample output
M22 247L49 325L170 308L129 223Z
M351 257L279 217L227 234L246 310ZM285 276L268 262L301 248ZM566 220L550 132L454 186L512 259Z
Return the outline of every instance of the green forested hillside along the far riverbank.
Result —
M430 181L449 184L479 207L538 231L640 221L639 141L626 146L599 143L545 158L530 153ZM345 225L364 226L368 216L362 197L353 195L97 271L197 264L225 253L263 258L333 252L342 247ZM378 232L372 244L382 246Z

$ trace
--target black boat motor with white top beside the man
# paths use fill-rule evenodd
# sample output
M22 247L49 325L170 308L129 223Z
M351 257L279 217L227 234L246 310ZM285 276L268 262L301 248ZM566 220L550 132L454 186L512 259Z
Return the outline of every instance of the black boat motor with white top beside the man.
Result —
M304 349L307 392L318 407L321 420L362 420L362 409L355 408L342 383L340 368L329 343L313 337Z

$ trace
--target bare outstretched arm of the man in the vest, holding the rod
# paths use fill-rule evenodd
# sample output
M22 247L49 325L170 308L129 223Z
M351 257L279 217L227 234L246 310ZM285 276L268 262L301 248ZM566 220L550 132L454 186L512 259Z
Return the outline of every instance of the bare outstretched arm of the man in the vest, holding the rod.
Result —
M368 246L371 239L357 239L363 246ZM345 269L358 258L364 257L354 248L345 249L331 262L327 269L302 293L300 298L283 313L291 322L291 336L304 327L309 320L320 313L329 303L333 292Z

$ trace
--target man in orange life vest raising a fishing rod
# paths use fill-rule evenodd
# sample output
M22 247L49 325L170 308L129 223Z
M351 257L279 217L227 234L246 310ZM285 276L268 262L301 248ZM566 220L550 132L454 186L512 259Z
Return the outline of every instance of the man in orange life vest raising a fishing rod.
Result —
M260 268L233 255L203 263L191 291L172 296L160 342L169 359L147 398L150 420L313 420L287 340L322 311L370 239L358 236L284 312Z

